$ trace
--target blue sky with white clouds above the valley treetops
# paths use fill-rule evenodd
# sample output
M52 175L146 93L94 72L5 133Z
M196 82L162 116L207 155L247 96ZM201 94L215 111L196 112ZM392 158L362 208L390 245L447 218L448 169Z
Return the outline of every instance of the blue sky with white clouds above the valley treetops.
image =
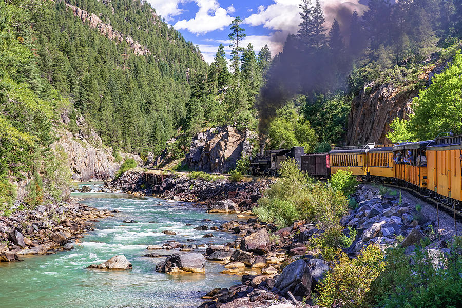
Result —
M300 23L300 0L148 0L158 15L179 30L188 41L198 45L204 59L210 63L223 43L229 57L229 24L236 16L244 20L247 37L244 45L252 43L258 52L268 44L273 55L282 50L287 34L295 33ZM314 0L312 0L314 3ZM321 0L326 26L335 18L330 13L339 5L362 12L365 6L358 0Z

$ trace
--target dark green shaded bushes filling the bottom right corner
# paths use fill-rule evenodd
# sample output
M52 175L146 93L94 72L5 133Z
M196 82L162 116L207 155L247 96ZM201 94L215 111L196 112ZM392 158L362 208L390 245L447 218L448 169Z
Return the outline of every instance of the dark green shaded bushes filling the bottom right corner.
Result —
M455 238L448 258L417 249L387 250L387 265L371 285L370 305L385 308L458 307L462 298L462 238ZM411 262L412 261L412 262Z

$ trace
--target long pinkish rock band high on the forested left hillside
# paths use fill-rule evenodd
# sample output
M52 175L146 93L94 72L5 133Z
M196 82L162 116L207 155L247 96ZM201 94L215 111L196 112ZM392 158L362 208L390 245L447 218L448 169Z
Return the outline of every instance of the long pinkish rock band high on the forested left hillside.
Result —
M110 24L104 23L101 20L101 18L98 17L97 15L84 11L81 8L70 5L68 3L66 3L66 7L72 10L72 13L74 14L75 17L79 17L83 23L88 22L88 25L91 28L98 29L98 31L100 31L102 35L109 38L109 40L113 40L116 42L125 41L128 44L128 46L131 47L134 54L136 55L151 54L151 52L149 51L149 49L146 48L146 46L142 46L140 43L133 40L133 38L131 38L131 36L129 35L123 35L122 33L113 30Z

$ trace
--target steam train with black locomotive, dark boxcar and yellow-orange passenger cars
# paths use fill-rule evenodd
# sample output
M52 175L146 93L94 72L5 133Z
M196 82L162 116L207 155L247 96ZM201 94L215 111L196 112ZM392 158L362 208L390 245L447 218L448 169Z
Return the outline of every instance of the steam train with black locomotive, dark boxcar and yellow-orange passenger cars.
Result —
M407 160L406 157L410 157ZM251 159L254 176L277 176L281 162L293 158L317 178L349 168L360 180L410 188L443 204L462 206L462 135L398 144L369 143L305 154L303 147L264 150ZM401 159L399 159L401 158Z

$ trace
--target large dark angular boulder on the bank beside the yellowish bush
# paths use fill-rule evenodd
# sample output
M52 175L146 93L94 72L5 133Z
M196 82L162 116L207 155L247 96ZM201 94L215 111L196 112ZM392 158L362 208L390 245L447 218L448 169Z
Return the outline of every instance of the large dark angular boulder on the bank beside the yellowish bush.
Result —
M297 260L287 265L276 280L275 287L287 296L290 291L296 297L309 297L312 284L311 270L304 260Z

